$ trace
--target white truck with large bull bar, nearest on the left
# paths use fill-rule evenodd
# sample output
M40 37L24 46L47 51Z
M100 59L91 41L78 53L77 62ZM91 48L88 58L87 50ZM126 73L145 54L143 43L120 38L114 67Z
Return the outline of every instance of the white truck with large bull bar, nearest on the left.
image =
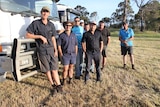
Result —
M40 10L48 6L51 10L50 20L57 31L62 25L59 21L57 4L59 0L0 0L0 81L5 80L6 73L11 72L15 81L31 76L37 72L35 41L25 39L28 25L40 18ZM27 69L29 73L23 73Z

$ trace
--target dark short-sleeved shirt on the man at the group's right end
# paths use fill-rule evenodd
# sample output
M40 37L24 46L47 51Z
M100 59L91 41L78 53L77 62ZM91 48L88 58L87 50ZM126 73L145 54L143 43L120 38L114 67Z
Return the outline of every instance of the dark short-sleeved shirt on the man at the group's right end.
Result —
M102 33L103 44L106 46L108 44L108 37L111 36L110 31L106 27L100 31Z

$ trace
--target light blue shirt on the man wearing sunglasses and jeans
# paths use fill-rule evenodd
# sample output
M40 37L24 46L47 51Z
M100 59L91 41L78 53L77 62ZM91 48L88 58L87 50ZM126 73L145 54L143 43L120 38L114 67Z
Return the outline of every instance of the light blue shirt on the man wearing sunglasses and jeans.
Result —
M81 41L84 33L84 28L82 26L74 26L72 28L72 32L76 35L76 38L78 40L78 48L82 48Z

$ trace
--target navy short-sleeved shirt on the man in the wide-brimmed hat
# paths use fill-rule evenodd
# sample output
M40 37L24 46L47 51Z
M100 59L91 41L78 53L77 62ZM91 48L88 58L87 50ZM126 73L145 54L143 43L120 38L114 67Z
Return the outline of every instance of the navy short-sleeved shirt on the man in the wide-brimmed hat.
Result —
M75 34L71 33L69 36L63 32L59 35L58 46L61 46L62 53L68 55L75 55L75 46L78 45L77 38Z

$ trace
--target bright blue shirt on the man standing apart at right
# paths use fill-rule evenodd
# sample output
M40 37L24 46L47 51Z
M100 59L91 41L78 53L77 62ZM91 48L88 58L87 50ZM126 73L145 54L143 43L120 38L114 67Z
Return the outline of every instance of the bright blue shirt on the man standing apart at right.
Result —
M121 37L122 40L127 40L134 36L134 32L131 28L128 28L127 30L120 29L119 36ZM130 40L127 42L127 44L128 46L133 46L133 41ZM121 42L121 46L125 46L125 44Z

